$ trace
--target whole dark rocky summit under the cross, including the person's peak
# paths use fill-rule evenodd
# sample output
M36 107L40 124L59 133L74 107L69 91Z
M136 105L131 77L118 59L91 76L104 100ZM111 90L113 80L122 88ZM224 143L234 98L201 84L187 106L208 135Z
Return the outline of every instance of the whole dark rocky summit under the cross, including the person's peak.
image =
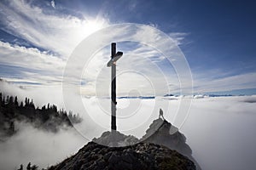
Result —
M104 132L49 170L201 169L191 154L185 136L159 118L151 123L142 139L118 131Z

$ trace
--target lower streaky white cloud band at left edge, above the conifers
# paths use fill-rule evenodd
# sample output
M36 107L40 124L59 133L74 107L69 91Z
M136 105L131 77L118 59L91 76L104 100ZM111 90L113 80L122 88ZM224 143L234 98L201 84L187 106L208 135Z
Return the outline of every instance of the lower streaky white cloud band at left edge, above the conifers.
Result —
M38 48L25 48L9 42L0 42L0 50L1 77L43 84L61 81L65 59L41 52Z

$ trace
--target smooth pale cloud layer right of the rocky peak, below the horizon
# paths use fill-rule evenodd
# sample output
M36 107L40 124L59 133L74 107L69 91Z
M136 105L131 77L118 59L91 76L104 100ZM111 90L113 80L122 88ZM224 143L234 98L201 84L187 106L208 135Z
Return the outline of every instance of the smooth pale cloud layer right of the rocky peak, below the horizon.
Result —
M195 99L181 131L202 169L255 169L255 96Z

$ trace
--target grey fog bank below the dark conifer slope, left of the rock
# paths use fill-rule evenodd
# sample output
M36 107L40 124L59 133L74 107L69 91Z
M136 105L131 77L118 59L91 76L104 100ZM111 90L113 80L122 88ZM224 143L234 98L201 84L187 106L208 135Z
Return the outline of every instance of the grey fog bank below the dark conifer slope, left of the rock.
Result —
M88 141L74 129L49 133L38 130L29 124L17 125L18 132L5 142L0 143L1 169L18 169L28 162L40 168L54 165L67 156L73 155Z

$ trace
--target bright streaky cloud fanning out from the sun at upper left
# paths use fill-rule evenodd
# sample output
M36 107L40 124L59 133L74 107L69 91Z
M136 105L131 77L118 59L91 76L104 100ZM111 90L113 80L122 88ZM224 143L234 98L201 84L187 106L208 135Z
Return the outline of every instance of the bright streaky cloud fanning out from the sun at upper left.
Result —
M39 8L26 1L1 2L0 8L4 31L65 58L84 37L108 26L108 20L103 18L91 20L89 16L84 16L84 19L79 19L70 14L49 12L49 9Z

